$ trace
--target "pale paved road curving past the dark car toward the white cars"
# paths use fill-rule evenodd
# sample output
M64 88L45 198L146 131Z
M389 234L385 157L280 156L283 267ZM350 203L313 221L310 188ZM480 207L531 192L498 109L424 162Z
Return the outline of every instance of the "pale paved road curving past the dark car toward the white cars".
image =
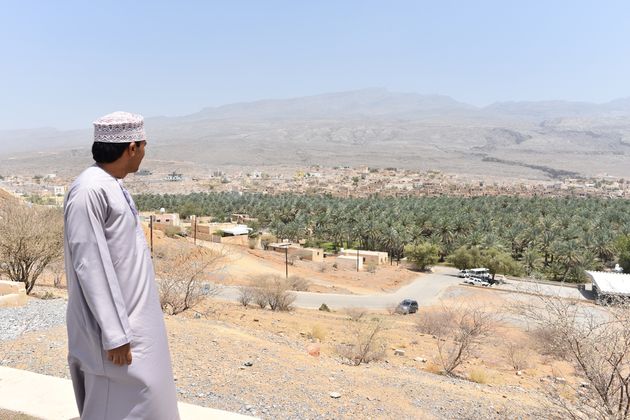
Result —
M325 303L331 309L387 309L397 305L403 299L410 298L417 300L421 306L428 306L435 303L447 288L461 282L462 279L457 277L457 270L447 267L436 267L435 273L422 274L408 285L392 293L344 295L295 292L297 298L294 305L309 309L317 309L322 303ZM225 287L217 297L235 301L238 299L238 294L238 288Z

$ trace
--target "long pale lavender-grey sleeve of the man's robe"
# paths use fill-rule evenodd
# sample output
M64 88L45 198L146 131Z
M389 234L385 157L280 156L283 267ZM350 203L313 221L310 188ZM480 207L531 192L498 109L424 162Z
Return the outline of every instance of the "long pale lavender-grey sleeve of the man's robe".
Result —
M80 189L66 206L70 258L90 311L101 329L104 350L131 342L125 301L105 238L103 193Z

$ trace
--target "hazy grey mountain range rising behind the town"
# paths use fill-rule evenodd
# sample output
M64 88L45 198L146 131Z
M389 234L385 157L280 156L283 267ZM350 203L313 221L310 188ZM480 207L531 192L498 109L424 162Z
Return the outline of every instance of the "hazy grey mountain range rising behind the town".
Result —
M630 99L606 104L503 102L364 89L147 118L147 164L368 165L497 178L630 177ZM0 132L0 167L73 172L91 161L84 130ZM153 168L158 169L158 168Z

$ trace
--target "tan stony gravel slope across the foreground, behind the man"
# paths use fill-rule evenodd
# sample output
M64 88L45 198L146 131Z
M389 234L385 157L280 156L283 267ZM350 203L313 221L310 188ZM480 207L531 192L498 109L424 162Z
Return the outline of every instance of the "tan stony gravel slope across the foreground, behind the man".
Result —
M466 293L450 295L470 299ZM451 378L435 373L435 339L418 333L416 315L366 315L387 322L385 354L349 366L336 351L349 337L347 313L218 302L200 309L165 318L179 399L261 418L545 418L541 381L562 369L570 377L566 366L535 354L536 366L517 376L496 350L509 328ZM64 316L63 298L1 309L0 364L68 377ZM313 344L318 356L307 351ZM475 370L481 383L463 379Z

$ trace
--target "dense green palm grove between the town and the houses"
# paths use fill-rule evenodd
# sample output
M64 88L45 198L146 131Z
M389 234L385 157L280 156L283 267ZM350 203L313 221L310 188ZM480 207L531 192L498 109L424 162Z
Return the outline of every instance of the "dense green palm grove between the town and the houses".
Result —
M228 220L258 219L254 232L407 257L420 268L458 268L580 282L584 270L619 263L630 272L630 202L594 198L379 197L193 193L143 194L142 210L168 208Z

